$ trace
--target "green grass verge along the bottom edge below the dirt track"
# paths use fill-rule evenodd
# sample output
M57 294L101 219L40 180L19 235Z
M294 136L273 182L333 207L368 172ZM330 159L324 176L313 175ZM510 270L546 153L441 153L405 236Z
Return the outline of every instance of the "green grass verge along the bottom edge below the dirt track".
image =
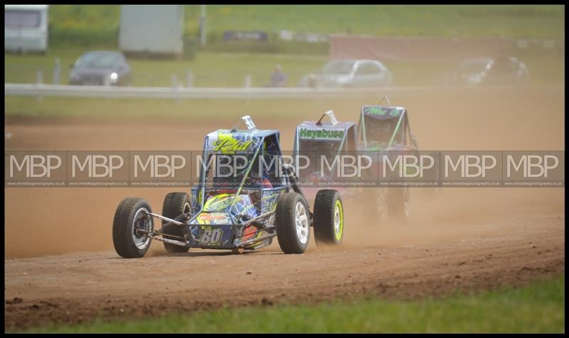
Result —
M409 302L368 298L320 305L250 307L195 315L27 332L565 332L565 277L519 289Z

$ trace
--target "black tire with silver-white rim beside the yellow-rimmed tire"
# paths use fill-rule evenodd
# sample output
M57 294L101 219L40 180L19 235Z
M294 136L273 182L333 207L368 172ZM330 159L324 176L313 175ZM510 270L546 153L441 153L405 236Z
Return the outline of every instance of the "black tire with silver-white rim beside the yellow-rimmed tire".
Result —
M310 240L310 214L301 194L282 194L277 201L275 227L280 249L284 253L304 253Z

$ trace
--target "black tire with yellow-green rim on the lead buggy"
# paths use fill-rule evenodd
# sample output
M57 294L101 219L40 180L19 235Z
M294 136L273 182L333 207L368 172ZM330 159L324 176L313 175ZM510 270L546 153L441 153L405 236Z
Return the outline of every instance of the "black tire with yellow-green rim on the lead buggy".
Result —
M323 189L314 199L314 239L317 245L339 245L344 238L344 204L338 191Z

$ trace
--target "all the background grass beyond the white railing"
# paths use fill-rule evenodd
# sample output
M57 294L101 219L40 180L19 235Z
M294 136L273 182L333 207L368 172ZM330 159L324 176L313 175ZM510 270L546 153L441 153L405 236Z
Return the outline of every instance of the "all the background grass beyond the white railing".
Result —
M196 36L200 7L188 5L184 14L186 34ZM4 82L36 83L41 70L43 82L53 83L55 59L58 58L60 83L67 83L70 65L82 53L117 49L119 5L52 5L49 16L50 47L46 56L5 54ZM170 86L173 75L179 83L185 84L186 74L191 71L196 87L243 87L246 75L251 75L252 86L262 87L269 83L275 64L280 63L287 74L288 85L294 87L303 74L317 71L326 63L329 47L326 43L314 49L296 46L297 42L278 42L274 33L277 30L351 31L352 34L376 36L563 39L564 26L563 6L208 5L208 48L198 51L196 59L132 58L129 62L135 86ZM221 39L227 30L267 31L270 44L280 45L276 49L266 49L272 53L220 53L226 45ZM292 45L286 47L287 44ZM242 47L238 48L241 52L264 51L255 46ZM315 51L317 55L314 55ZM562 51L549 51L547 55L544 55L545 51L523 52L526 55L521 51L513 53L528 65L534 83L564 82ZM394 75L394 85L430 85L456 66L409 62L385 62L385 65Z

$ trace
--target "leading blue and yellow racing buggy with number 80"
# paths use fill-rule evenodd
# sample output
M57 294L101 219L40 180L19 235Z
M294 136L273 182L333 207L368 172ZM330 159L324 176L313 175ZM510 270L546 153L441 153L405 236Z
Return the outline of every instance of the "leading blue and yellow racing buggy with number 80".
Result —
M258 130L249 116L241 120L245 128L206 136L199 181L190 194L167 194L162 215L153 213L144 199L120 202L112 226L120 256L143 257L153 239L169 253L190 248L243 253L270 245L275 237L284 253L304 253L310 227L317 243L341 243L344 206L339 192L318 191L310 211L294 169L281 157L280 133ZM230 161L231 166L220 165ZM154 219L161 221L158 230Z

